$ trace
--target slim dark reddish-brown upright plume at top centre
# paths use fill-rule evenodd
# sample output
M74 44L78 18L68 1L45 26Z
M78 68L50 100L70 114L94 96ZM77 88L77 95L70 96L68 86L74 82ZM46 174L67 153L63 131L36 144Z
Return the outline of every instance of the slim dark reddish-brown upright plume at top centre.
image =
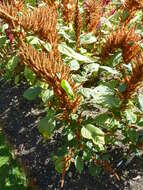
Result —
M82 19L81 19L81 14L79 10L78 0L77 0L76 7L75 7L75 15L74 15L74 31L75 31L77 49L78 49L79 41L80 41L81 27L82 27Z

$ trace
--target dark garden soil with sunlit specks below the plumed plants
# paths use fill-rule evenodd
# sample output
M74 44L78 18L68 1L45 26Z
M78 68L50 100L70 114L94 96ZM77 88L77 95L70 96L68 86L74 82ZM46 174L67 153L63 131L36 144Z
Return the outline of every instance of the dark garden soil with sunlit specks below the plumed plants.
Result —
M60 137L55 135L55 140L43 143L36 124L40 117L44 116L44 108L39 100L28 102L23 98L23 92L27 88L23 83L16 87L13 83L0 80L0 120L4 126L3 131L14 147L15 155L28 171L32 185L37 184L39 190L60 190L61 175L56 173L50 160ZM118 152L115 157L118 157ZM91 177L86 169L79 175L72 167L66 174L63 189L143 190L143 159L133 159L118 174L120 181L106 173Z

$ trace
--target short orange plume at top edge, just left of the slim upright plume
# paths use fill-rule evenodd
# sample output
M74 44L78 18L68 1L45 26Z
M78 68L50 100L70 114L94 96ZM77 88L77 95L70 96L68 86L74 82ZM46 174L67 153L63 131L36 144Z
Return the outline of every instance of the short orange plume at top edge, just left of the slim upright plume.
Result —
M74 18L76 0L62 0L61 3L63 20L65 23L69 23Z

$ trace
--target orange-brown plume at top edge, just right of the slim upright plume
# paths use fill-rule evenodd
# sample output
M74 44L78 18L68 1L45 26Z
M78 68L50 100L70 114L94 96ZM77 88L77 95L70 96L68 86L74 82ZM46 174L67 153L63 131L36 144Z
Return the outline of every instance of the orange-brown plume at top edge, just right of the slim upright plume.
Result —
M85 14L85 23L88 26L88 31L94 31L102 16L103 12L103 3L100 0L86 0L83 3L84 14Z

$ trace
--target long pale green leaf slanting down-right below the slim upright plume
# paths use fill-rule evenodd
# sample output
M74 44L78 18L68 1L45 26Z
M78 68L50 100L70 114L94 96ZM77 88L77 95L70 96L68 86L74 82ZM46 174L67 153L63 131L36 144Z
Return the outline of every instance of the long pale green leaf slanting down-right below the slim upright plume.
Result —
M93 63L95 60L93 58L86 57L75 52L72 48L68 47L65 43L59 44L59 51L68 57L74 58L77 61L82 61L84 63Z

